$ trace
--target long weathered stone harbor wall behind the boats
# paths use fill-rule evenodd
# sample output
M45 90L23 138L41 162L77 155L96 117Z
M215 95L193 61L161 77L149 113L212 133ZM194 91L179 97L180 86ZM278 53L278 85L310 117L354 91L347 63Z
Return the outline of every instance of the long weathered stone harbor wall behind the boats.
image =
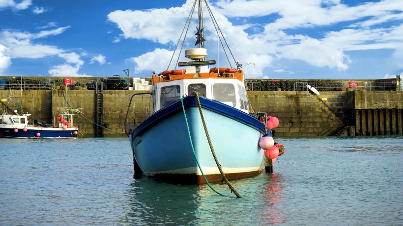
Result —
M104 135L126 136L124 119L131 95L146 91L104 90ZM275 136L354 136L403 134L403 93L398 91L248 91L254 112L267 112L279 119L273 129ZM94 90L12 90L0 91L1 104L9 110L31 113L30 120L53 122L55 116L67 108L77 109L74 125L79 135L96 134L98 95ZM5 101L3 101L5 100ZM128 122L139 124L149 113L149 95L133 98Z

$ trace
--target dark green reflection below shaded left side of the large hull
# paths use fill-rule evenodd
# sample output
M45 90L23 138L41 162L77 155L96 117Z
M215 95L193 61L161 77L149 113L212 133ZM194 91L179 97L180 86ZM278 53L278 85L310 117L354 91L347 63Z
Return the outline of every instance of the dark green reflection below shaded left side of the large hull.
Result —
M129 185L130 225L192 225L199 205L197 186L158 182L141 176Z

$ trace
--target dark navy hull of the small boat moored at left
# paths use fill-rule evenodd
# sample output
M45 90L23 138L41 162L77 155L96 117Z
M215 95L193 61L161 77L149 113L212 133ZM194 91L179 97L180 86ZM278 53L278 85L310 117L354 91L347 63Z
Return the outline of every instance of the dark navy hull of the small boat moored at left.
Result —
M17 127L18 131L15 132L15 128L15 126L0 127L0 138L77 138L77 134L74 134L74 131L78 131L77 128L63 129L55 127L26 127L27 131L24 131L24 127ZM40 133L39 137L36 135L37 133Z

